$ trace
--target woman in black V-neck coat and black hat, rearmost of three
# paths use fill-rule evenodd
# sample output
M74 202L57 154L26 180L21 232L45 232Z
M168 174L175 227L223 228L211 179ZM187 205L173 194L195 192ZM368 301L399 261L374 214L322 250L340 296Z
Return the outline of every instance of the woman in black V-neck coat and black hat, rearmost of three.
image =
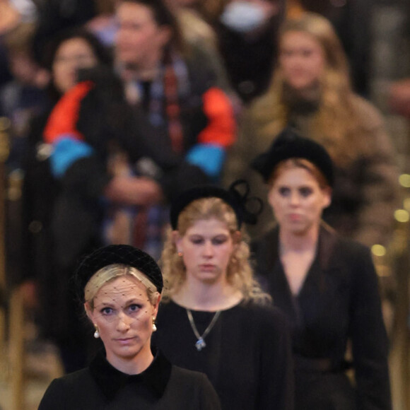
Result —
M392 409L370 250L321 220L336 189L332 159L287 127L252 166L264 178L276 218L252 251L261 283L291 327L295 410Z

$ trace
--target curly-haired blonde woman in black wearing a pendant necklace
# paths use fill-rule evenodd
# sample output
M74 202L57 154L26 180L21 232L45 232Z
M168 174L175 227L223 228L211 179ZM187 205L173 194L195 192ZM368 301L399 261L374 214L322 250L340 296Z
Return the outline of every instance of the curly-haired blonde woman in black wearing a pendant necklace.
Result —
M253 278L244 197L206 186L172 204L154 343L172 363L206 373L222 409L292 409L290 336Z

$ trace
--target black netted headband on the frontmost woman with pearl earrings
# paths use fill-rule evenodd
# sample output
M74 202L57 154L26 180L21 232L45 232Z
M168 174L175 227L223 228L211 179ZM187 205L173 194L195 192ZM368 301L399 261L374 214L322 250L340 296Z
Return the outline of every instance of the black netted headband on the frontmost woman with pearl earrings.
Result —
M130 245L108 245L86 256L76 270L74 280L82 301L84 300L84 288L91 276L111 264L133 266L148 277L158 292L163 290L163 275L160 267L150 255Z

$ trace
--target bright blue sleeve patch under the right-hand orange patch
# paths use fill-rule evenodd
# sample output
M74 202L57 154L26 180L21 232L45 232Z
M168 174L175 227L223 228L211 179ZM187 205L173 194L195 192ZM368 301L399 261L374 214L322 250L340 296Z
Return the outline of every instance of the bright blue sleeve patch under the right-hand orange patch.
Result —
M197 144L187 152L185 159L197 165L209 177L217 178L225 160L225 149L216 144Z

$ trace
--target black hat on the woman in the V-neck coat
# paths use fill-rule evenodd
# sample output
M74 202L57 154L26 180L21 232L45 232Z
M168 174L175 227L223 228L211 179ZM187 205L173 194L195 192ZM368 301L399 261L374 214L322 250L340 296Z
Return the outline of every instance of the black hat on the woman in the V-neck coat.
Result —
M268 151L252 160L251 166L262 175L265 182L268 182L276 165L290 158L304 158L310 161L319 168L329 186L333 186L334 170L329 153L323 146L312 139L300 136L291 127L283 129Z

